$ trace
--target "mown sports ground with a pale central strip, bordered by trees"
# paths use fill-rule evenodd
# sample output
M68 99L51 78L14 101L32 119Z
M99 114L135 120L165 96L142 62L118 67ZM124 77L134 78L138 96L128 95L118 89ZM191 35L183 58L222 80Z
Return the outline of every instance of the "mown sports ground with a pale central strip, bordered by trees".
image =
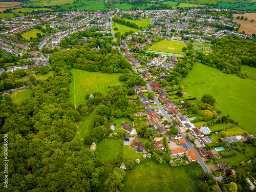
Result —
M179 42L175 40L161 40L159 42L156 42L153 46L149 47L148 50L170 53L184 53L183 51L181 51L184 46L185 42Z

